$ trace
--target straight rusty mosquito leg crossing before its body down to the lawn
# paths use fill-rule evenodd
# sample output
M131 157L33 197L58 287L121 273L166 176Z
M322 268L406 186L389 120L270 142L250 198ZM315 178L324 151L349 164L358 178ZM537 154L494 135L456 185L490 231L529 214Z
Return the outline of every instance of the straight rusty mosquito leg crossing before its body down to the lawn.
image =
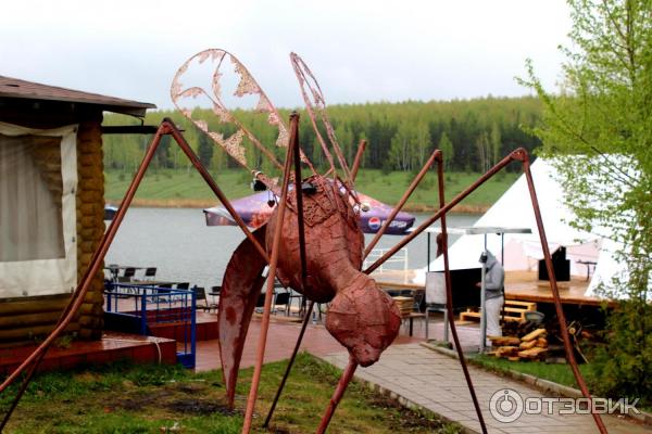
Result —
M249 433L251 430L251 421L253 419L253 410L255 408L255 399L258 397L258 387L261 381L261 371L263 369L263 358L265 356L265 344L267 343L267 329L269 328L269 312L272 311L272 297L274 293L274 279L276 277L276 265L278 263L278 247L280 245L280 234L283 232L283 222L285 218L286 205L288 202L288 191L290 183L290 167L292 163L292 151L294 149L293 140L297 140L299 131L299 116L293 113L291 116L290 126L290 144L286 155L286 164L283 179L283 189L277 209L277 224L274 230L274 241L272 243L272 257L269 259L269 273L267 277L267 292L265 294L265 308L263 311L263 320L261 322L261 335L259 339L258 356L253 368L253 376L251 379L251 387L249 390L249 398L247 400L247 410L244 412L244 422L242 424L242 433Z

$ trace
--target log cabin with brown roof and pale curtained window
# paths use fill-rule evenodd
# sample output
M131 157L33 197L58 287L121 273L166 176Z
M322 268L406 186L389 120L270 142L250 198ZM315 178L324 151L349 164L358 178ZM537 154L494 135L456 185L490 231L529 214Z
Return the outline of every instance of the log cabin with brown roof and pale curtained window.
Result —
M102 114L153 104L0 76L0 347L52 329L104 232ZM103 276L66 333L101 336Z

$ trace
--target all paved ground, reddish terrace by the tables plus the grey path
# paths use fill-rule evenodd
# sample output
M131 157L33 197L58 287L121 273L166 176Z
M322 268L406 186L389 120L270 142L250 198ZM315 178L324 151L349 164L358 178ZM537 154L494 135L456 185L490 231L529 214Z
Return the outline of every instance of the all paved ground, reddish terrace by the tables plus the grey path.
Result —
M250 324L241 367L253 366L255 348L260 336L260 318ZM424 407L441 417L456 421L469 432L480 432L477 416L471 400L471 394L457 359L434 352L419 345L424 341L423 322L414 324L414 337L408 336L406 328L381 356L380 360L369 368L359 368L356 378L377 384L393 392L408 401ZM430 322L430 337L441 339L443 324L441 319ZM265 362L289 358L299 334L300 324L287 321L269 324ZM477 326L457 328L463 347L477 346L479 331ZM197 370L220 368L220 349L217 341L198 342ZM301 346L317 357L343 368L348 361L348 353L326 331L323 324L311 324ZM485 422L490 433L551 433L585 434L598 432L593 419L588 414L523 414L516 421L502 423L489 411L491 395L498 391L510 388L523 398L541 397L542 393L522 382L510 380L471 366L471 375L480 400ZM337 417L337 413L336 416ZM631 422L629 419L603 417L610 433L639 434L652 433L652 429Z

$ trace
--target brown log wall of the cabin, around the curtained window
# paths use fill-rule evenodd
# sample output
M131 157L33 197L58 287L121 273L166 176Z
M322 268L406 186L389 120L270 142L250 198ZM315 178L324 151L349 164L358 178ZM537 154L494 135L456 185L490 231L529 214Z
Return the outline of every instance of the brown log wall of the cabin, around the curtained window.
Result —
M74 118L48 122L48 114L11 113L0 120L30 128L55 128L79 124L77 131L77 276L82 279L104 232L104 175L102 162L102 114L89 111ZM103 327L103 270L91 288L66 333L85 340L100 339ZM0 346L34 343L49 334L71 299L71 294L0 299Z

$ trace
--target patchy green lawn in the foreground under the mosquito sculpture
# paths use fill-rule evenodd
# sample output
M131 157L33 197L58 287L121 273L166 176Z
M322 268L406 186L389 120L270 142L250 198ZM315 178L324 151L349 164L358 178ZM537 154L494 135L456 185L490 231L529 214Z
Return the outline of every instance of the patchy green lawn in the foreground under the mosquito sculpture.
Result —
M265 433L267 413L286 362L266 365L254 433ZM241 371L236 409L225 406L220 371L192 373L179 367L114 363L37 376L7 433L239 433L251 369ZM314 432L340 371L306 354L296 367L272 421L272 432ZM15 387L0 396L4 413ZM176 427L177 431L171 429ZM459 433L459 425L405 409L352 383L330 423L330 433Z

